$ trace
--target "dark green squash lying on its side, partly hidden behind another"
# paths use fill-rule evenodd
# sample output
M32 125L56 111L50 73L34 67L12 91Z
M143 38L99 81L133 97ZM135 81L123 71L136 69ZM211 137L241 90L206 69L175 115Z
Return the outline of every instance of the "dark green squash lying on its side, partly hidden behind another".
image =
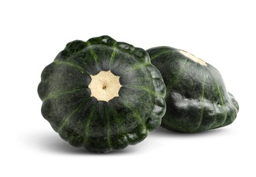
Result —
M238 102L228 93L219 71L193 54L171 47L147 50L167 87L162 127L198 132L233 123Z

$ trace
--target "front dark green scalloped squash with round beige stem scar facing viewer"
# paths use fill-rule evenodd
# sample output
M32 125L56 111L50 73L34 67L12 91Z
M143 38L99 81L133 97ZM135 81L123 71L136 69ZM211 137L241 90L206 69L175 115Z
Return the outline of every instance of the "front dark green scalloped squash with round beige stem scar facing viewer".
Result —
M42 116L92 152L141 142L165 114L165 84L147 52L109 36L68 43L41 78Z

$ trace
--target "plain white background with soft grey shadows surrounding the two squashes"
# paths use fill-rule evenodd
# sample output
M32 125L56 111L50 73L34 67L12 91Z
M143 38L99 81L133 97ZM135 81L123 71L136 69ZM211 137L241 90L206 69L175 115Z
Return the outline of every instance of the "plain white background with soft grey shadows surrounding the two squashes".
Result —
M256 176L255 8L247 0L1 1L0 176ZM107 154L70 146L41 115L40 74L66 43L100 35L181 48L214 65L240 104L236 121L194 134L160 128Z

